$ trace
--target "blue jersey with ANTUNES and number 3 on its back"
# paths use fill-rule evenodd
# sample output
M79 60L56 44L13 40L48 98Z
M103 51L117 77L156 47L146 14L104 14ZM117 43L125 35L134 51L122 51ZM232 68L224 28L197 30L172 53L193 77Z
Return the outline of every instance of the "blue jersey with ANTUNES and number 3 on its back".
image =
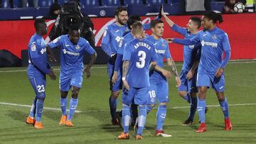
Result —
M146 39L136 38L124 45L123 60L129 60L127 82L130 87L149 87L149 64L156 61L154 45Z

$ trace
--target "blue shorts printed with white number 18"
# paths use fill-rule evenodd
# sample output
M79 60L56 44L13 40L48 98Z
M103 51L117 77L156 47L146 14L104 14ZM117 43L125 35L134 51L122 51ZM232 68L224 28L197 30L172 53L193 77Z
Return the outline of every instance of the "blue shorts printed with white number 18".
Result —
M159 81L150 81L148 104L156 104L169 101L169 87L165 79Z

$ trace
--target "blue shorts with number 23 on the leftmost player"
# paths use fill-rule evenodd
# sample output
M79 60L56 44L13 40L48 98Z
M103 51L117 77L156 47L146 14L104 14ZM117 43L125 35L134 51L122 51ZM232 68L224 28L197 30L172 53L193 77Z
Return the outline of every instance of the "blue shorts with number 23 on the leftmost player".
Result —
M46 77L29 77L29 82L36 93L36 98L46 98Z

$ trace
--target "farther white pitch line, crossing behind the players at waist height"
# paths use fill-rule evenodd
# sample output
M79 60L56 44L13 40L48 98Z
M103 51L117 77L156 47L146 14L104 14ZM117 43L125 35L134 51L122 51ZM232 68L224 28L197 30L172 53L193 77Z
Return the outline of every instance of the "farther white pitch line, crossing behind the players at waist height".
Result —
M254 59L253 59L254 60ZM249 63L256 63L256 61L245 61L245 60L234 60L228 62L228 64L249 64ZM176 66L182 66L183 64L177 64ZM105 69L107 67L92 67L92 69ZM60 69L53 69L55 71ZM26 72L27 70L0 70L1 72Z

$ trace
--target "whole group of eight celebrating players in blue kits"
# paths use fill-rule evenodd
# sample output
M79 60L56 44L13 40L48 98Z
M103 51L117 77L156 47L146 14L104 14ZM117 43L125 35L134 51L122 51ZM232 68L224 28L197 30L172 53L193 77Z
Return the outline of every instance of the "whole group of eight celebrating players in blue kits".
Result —
M118 139L129 139L129 125L137 129L136 139L142 139L146 123L146 115L154 108L156 101L159 107L156 114L156 131L154 135L169 137L164 133L166 105L169 102L168 80L171 73L176 79L178 93L191 104L191 109L183 125L193 123L193 117L198 110L200 127L196 132L206 131L205 111L206 92L208 87L215 90L220 107L225 117L225 130L232 129L228 114L228 101L224 96L225 79L223 70L230 59L230 44L228 35L216 23L223 22L220 13L207 11L202 18L191 17L187 28L181 28L171 21L161 9L151 23L142 25L139 16L127 15L127 9L118 7L114 17L116 23L107 26L102 38L102 50L110 57L107 70L110 79L110 113L112 124L120 125L124 131ZM161 38L164 35L164 17L173 31L181 33L185 39ZM203 30L200 31L201 25ZM43 101L46 97L46 74L55 79L53 70L46 60L46 51L50 60L55 60L51 48L60 47L60 107L62 116L60 125L73 126L72 118L78 106L78 92L82 86L83 72L90 77L90 67L95 62L97 54L84 38L80 38L79 26L71 26L68 35L61 35L52 42L44 42L42 36L47 33L45 21L35 21L36 34L28 44L28 78L36 92L31 112L26 123L35 128L43 128L41 115ZM152 35L146 35L144 30L151 28ZM183 47L183 67L178 75L174 60L171 58L169 43L179 43ZM90 64L84 69L82 58L84 52L92 55ZM225 52L225 57L223 56ZM164 69L164 58L170 70ZM67 109L68 90L72 87L72 98ZM122 89L122 112L117 112L117 97ZM197 94L198 93L198 94ZM139 111L138 111L139 107ZM131 120L132 118L132 120Z

